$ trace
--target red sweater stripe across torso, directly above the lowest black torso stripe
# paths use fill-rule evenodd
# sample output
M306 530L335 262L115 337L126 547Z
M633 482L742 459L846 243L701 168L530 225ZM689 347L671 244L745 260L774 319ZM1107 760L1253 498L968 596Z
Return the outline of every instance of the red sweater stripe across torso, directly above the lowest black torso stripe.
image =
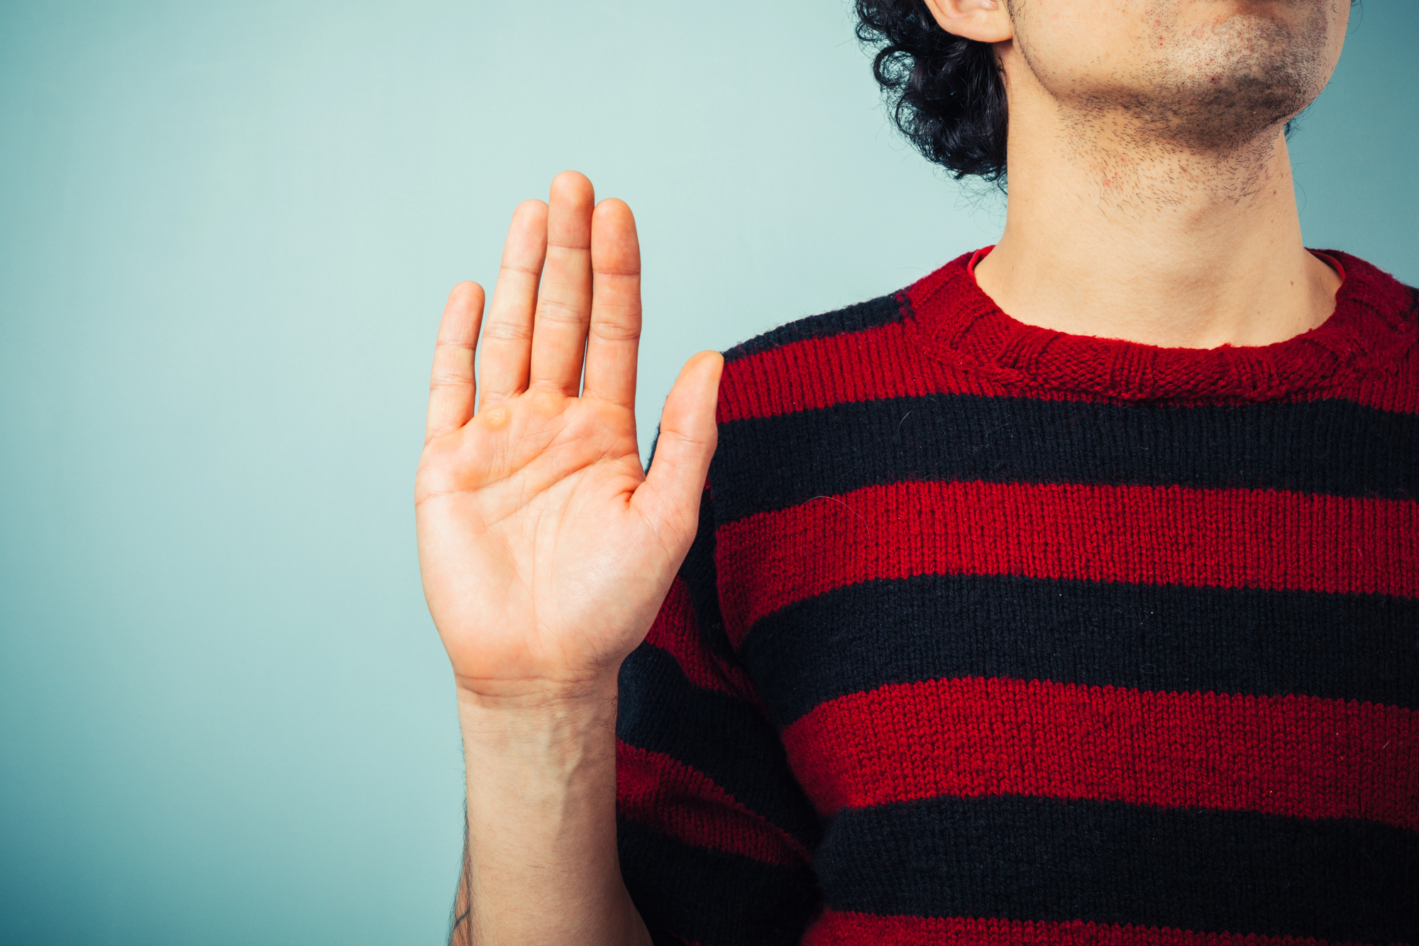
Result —
M783 744L824 817L935 795L1044 795L1419 831L1419 714L1395 706L928 680L823 703Z

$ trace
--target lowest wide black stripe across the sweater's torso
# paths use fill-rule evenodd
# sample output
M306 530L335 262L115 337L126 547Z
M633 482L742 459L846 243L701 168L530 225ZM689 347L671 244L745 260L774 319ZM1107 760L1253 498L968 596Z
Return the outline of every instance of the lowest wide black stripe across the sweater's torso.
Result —
M839 910L1419 942L1419 835L1100 801L849 810L815 859Z

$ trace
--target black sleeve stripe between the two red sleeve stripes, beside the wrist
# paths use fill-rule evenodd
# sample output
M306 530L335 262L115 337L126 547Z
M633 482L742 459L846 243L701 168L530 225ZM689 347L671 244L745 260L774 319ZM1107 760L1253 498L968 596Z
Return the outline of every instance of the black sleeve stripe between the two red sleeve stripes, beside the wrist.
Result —
M616 736L702 771L809 849L822 835L769 722L748 703L694 686L657 646L643 643L622 665Z

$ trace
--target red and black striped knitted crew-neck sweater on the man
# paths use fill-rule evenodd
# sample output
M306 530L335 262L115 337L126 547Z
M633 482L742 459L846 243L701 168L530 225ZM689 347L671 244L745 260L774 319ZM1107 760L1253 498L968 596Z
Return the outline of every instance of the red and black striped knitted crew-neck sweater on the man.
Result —
M1419 297L1154 348L975 259L725 355L622 672L657 943L1419 943Z

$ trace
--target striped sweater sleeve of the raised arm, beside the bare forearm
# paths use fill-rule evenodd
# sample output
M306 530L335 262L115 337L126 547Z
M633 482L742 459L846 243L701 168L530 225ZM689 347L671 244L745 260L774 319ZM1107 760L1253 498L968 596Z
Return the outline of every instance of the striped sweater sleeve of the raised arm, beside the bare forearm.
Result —
M657 946L797 943L820 827L725 636L708 490L619 699L620 868Z

